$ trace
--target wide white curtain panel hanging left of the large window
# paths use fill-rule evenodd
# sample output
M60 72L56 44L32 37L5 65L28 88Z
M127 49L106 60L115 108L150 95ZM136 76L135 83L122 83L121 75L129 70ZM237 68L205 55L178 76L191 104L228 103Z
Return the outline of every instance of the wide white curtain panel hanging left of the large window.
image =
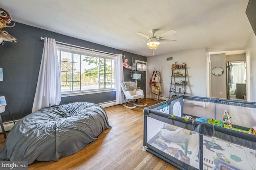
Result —
M45 38L32 112L60 104L60 70L55 39Z

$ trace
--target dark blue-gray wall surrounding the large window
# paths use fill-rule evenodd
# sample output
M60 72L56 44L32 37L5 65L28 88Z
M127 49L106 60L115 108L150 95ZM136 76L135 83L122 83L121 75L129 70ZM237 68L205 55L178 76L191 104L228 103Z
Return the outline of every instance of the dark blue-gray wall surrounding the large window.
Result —
M32 111L44 47L44 41L40 40L40 37L50 37L63 43L109 53L123 54L123 51L119 49L68 37L18 22L15 22L14 27L5 28L5 30L18 39L18 42L5 42L5 45L0 45L0 67L3 68L4 75L4 81L0 82L0 96L5 96L8 106L6 107L6 111L1 113L3 122L11 121L12 119L21 119ZM146 57L144 56L128 52L125 52L125 55L129 62L132 61L132 57L134 61L136 59L146 61ZM124 81L134 81L130 74L128 69L124 69ZM64 97L62 98L61 104L71 102L92 102L98 104L115 99L116 92L106 92Z

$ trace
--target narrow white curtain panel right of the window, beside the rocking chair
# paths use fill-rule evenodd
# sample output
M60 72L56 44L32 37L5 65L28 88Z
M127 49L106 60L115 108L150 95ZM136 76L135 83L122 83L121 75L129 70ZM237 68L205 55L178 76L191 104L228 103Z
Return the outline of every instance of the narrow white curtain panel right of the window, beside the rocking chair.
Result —
M124 81L124 73L123 73L123 58L122 54L116 55L116 104L124 103L124 94L122 93L122 89L120 83Z

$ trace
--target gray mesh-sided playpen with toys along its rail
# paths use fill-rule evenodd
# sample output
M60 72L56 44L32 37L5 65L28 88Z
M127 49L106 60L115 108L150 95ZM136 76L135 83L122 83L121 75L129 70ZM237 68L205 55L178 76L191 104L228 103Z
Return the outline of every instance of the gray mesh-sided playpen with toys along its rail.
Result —
M179 169L256 169L254 102L182 95L143 115L143 150Z

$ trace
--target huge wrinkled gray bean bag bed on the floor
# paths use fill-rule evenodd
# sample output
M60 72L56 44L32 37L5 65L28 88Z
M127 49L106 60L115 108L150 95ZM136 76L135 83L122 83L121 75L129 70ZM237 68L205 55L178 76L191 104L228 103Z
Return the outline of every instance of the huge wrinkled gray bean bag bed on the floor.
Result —
M38 110L9 132L0 160L58 161L83 149L111 126L97 104L71 103Z

